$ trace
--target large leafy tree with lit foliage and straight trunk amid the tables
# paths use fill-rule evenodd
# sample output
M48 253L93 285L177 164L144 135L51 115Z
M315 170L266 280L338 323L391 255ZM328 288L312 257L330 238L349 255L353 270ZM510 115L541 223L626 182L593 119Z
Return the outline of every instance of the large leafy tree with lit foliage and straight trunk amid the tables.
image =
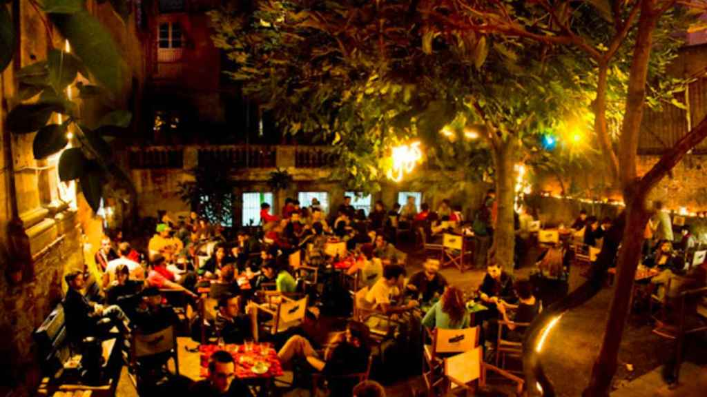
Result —
M493 160L496 259L512 272L521 141L580 117L568 98L582 87L565 66L570 52L470 29L462 5L262 1L252 14L211 17L244 92L287 131L332 136L346 176L366 191L380 189L390 146L418 137L440 150L446 124L476 127Z

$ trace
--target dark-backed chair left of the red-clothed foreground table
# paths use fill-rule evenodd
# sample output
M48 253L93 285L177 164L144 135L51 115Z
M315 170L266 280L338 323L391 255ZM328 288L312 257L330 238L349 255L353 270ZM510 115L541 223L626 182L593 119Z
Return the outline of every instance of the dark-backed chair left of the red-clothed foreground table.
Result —
M155 333L144 335L139 331L132 333L130 342L130 366L134 369L132 381L135 387L141 383L141 360L158 355L171 357L175 362L175 373L179 375L179 355L177 354L177 335L174 326L168 326ZM169 359L168 359L169 360Z

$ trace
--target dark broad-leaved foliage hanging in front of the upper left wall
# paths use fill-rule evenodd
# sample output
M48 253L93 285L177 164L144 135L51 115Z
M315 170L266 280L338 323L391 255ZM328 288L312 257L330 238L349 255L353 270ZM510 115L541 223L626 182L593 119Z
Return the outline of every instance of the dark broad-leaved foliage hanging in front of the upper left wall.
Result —
M10 64L15 48L15 28L7 2L0 2L0 71ZM86 10L83 1L30 3L42 11L40 18L52 42L56 30L69 42L71 51L63 46L52 48L47 59L17 71L17 95L13 97L6 127L14 134L37 133L33 140L37 160L63 150L59 178L64 182L78 179L86 201L93 211L98 211L101 198L107 193L107 180L112 178L134 191L129 177L115 162L109 144L132 119L132 114L110 101L124 88L127 66L110 33ZM126 1L110 3L119 18L127 18ZM77 80L79 75L96 85ZM78 97L66 95L70 85L74 85ZM89 98L101 100L109 108L93 124L78 114L76 100ZM61 121L49 123L53 114L58 114ZM66 148L69 134L75 137L74 146Z

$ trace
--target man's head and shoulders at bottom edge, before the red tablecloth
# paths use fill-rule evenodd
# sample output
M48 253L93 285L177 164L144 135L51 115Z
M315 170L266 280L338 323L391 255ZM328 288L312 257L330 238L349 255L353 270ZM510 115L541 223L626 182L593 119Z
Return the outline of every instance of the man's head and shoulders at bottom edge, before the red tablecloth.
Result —
M243 382L235 379L233 356L218 350L209 358L209 377L189 386L189 396L253 397L253 394Z

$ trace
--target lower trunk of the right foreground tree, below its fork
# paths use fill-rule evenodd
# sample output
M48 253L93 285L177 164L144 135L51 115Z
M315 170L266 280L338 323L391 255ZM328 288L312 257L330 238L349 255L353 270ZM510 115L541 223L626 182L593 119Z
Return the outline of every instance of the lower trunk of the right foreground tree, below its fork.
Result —
M639 190L636 197L626 204L626 227L619 249L614 298L609 308L602 348L592 368L590 384L583 393L585 397L608 397L612 378L616 374L621 335L624 333L626 317L631 309L629 303L633 293L633 280L636 277L638 261L641 259L643 231L650 218L650 213L645 210L645 195L643 190Z

